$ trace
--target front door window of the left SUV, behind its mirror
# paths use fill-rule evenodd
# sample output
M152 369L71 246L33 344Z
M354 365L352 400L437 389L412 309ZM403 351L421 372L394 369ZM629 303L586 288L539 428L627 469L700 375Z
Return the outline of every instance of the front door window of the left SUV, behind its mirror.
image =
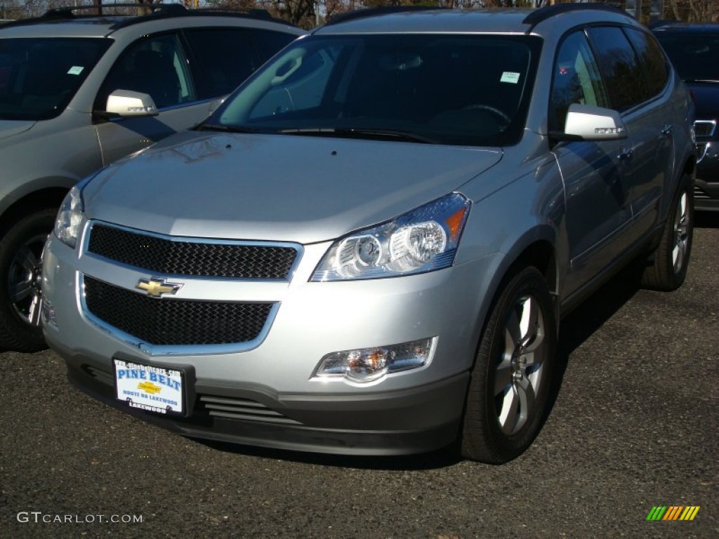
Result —
M116 90L149 93L158 109L195 101L187 58L175 34L145 37L127 47L112 66L95 102L104 110Z

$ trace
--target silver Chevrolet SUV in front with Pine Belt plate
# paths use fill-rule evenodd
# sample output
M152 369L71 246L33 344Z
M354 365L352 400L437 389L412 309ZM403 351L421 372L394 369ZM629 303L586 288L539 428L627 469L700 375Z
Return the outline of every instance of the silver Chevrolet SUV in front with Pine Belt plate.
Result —
M618 10L360 11L71 190L47 342L187 436L508 461L561 316L635 259L682 284L692 120Z

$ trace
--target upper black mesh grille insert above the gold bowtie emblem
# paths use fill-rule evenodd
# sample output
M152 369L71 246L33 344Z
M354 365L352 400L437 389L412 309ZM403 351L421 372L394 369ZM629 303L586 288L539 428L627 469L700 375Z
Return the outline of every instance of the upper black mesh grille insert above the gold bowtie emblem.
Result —
M151 272L240 279L284 279L297 255L292 247L170 241L101 224L88 252Z

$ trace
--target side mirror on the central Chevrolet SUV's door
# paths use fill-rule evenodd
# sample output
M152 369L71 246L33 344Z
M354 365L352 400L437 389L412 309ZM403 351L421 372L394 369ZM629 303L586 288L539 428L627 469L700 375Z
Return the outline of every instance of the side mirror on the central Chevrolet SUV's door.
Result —
M620 140L628 133L617 111L600 106L572 103L567 111L564 132L553 133L559 140Z

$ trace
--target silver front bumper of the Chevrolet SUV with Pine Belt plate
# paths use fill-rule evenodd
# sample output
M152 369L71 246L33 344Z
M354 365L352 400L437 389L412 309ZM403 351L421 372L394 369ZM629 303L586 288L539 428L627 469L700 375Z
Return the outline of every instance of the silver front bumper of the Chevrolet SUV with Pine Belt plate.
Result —
M183 287L188 295L277 301L275 317L254 348L207 354L163 349L160 355L91 321L79 292L82 275L126 287L150 275L78 255L51 237L43 289L54 323L45 323L45 338L81 390L185 436L344 454L419 453L452 443L461 425L496 257L411 277L308 282L326 248L306 246L291 282L253 286L195 280ZM312 377L332 351L432 336L437 338L434 355L424 367L367 384ZM168 418L115 400L113 357L191 367L191 415Z

